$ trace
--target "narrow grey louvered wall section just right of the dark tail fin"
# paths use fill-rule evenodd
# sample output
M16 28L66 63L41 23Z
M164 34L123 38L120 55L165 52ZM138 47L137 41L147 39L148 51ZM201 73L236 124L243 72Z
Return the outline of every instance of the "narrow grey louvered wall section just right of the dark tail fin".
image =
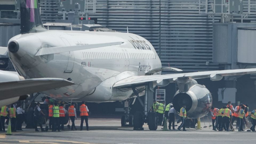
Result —
M39 6L41 7L41 19L43 22L54 22L59 18L59 0L40 0Z

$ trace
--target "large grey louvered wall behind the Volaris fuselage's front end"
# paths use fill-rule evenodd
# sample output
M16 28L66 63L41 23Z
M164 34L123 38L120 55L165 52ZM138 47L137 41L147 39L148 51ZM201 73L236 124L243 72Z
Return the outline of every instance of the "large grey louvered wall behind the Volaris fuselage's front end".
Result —
M198 0L98 0L96 13L89 16L113 30L126 32L128 26L130 33L149 40L163 67L219 69L212 63L213 20L199 14Z

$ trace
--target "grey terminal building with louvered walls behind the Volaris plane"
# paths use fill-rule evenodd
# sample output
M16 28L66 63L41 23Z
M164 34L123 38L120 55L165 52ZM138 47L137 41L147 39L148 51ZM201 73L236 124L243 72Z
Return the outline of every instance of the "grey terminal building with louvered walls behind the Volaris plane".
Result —
M19 34L18 1L0 0L0 46L7 46L8 39ZM256 0L40 0L39 4L48 29L99 27L146 38L156 49L162 67L183 72L255 67ZM7 57L1 56L1 61L5 63L1 69L14 70ZM198 82L213 93L213 105L220 107L231 101L255 109L255 80L255 75L249 75ZM171 102L176 84L163 89L166 101Z

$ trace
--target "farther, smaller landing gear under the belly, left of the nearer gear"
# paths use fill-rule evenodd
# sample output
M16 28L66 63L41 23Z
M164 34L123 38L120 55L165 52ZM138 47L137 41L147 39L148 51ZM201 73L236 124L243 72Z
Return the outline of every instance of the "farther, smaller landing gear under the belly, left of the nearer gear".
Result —
M130 115L129 101L125 101L125 115L122 115L121 126L122 127L133 127L133 115ZM129 123L129 124L126 124Z

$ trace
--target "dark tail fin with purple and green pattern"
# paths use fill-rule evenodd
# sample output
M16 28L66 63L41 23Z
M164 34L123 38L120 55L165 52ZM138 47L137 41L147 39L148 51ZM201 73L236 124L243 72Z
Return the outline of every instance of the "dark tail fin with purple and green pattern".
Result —
M47 31L43 26L38 0L20 0L21 34Z

